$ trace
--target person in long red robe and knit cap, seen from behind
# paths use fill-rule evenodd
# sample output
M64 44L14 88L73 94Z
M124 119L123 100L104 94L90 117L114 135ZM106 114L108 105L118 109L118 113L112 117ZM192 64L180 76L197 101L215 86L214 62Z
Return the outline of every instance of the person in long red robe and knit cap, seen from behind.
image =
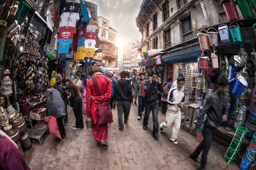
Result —
M95 138L98 146L108 146L106 139L108 137L108 124L98 125L98 111L97 104L109 105L111 98L112 86L108 77L100 73L100 63L96 62L93 65L93 76L97 80L99 92L101 96L96 96L92 79L89 79L86 84L86 115L93 120L93 137Z

